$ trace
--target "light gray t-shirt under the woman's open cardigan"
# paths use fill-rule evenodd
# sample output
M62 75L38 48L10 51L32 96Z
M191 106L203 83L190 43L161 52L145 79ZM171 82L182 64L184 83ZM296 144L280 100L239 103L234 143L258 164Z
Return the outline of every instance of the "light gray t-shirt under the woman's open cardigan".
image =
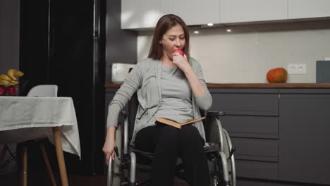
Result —
M193 119L191 89L185 74L177 66L161 65L161 104L156 117L183 123Z

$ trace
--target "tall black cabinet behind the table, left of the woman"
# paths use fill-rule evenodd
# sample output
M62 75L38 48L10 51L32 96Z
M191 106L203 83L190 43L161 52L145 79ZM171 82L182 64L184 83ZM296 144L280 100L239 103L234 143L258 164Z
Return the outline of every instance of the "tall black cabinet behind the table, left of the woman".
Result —
M103 173L105 13L104 0L20 4L23 94L55 84L75 104L82 156L65 154L68 174Z

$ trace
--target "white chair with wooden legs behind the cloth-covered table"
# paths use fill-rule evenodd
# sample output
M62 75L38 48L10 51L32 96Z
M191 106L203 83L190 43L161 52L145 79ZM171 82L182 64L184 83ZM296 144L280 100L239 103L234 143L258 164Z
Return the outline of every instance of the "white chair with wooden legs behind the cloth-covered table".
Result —
M57 85L37 85L32 87L30 91L27 93L27 97L57 97ZM41 139L37 139L41 140ZM51 177L51 184L56 185L56 180L54 177L54 173L51 170L51 166L49 163L49 159L47 156L47 152L44 149L44 144L40 144L40 149L42 151L42 157L44 158L44 162L46 163L47 170ZM27 146L23 142L23 185L27 185Z

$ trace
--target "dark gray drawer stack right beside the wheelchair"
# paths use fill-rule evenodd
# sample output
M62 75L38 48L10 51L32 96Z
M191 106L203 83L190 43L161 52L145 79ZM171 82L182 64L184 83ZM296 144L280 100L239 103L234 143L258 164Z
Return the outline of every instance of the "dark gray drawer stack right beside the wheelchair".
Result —
M221 118L236 147L236 174L243 178L279 178L279 89L209 89L210 110Z

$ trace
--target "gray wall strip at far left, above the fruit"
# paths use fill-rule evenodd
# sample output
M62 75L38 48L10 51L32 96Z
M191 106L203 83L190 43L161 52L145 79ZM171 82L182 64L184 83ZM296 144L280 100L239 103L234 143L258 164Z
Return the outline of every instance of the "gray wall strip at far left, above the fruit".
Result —
M0 0L0 74L19 66L20 1Z

